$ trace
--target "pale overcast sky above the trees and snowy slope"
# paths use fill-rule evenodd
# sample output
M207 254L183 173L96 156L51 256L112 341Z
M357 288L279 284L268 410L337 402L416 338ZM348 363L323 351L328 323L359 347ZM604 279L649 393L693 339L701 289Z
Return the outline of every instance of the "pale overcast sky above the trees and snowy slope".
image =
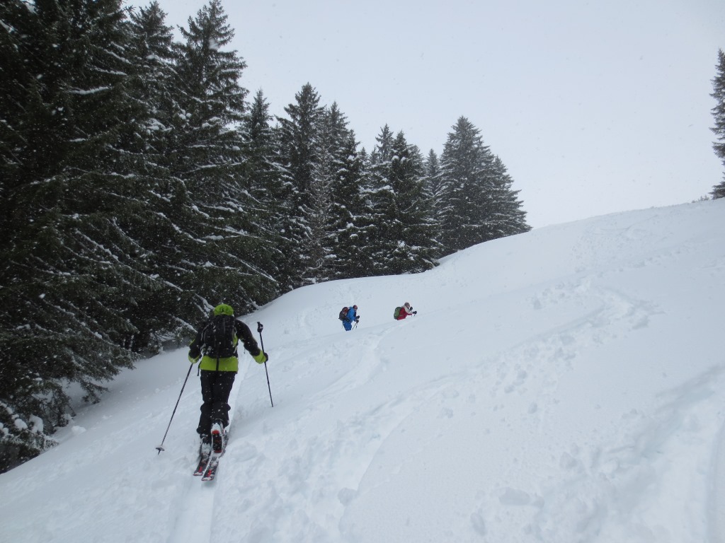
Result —
M135 5L148 2L133 0ZM204 0L159 0L186 25ZM223 0L273 114L310 83L370 151L481 130L533 227L696 200L721 181L712 79L724 0Z

